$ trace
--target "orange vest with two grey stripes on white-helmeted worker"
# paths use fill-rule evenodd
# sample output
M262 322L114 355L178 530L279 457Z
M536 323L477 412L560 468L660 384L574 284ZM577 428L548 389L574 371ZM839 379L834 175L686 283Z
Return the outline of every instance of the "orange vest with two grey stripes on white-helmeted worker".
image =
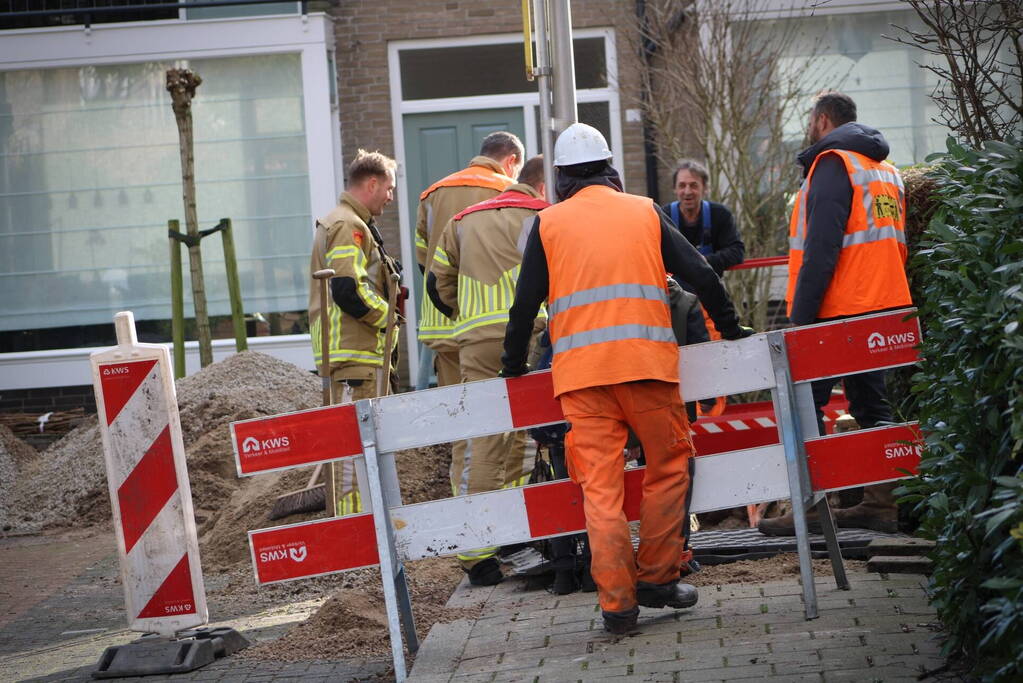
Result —
M591 185L539 217L554 396L640 379L677 382L653 202Z

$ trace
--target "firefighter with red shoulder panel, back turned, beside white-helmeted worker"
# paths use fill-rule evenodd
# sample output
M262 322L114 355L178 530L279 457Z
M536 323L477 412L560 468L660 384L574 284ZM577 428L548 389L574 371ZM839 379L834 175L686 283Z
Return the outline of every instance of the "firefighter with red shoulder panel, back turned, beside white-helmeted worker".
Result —
M543 194L543 158L534 156L519 182L495 197L457 214L444 228L428 291L438 308L450 311L458 344L461 381L496 377L508 309L522 263L522 248L536 214L548 204ZM545 319L538 319L542 329ZM472 439L451 463L452 493L494 491L523 484L526 435L508 431ZM458 559L474 585L502 578L498 548L478 548Z

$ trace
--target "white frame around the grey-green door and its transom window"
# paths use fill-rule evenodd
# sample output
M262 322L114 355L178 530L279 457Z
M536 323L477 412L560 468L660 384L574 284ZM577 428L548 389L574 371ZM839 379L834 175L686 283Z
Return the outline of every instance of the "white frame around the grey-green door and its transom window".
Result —
M621 99L618 92L618 52L615 30L612 28L577 29L572 33L573 40L585 38L603 38L605 63L607 65L608 85L605 88L585 88L576 91L576 101L608 102L608 113L611 126L611 150L616 158L621 158L624 152L622 143ZM410 199L405 182L405 129L406 113L435 113L443 111L464 111L470 109L500 109L506 107L522 107L523 123L526 129L526 155L538 154L539 135L536 130L536 120L532 107L539 106L540 96L535 92L505 93L500 95L473 95L469 97L437 97L433 99L402 99L401 94L401 63L399 53L403 50L421 50L438 47L470 47L477 45L522 44L521 33L493 34L486 36L463 36L458 38L429 38L420 40L401 40L388 43L388 73L391 84L391 123L394 130L394 153L398 162L398 223L401 235L401 258L406 264L415 263L415 246L412 241L409 220L412 216ZM624 180L624 171L619 168ZM414 301L414 298L413 300ZM419 351L416 335L418 311L415 306L406 308L408 324L405 326L408 347L409 377L414 380L418 373Z

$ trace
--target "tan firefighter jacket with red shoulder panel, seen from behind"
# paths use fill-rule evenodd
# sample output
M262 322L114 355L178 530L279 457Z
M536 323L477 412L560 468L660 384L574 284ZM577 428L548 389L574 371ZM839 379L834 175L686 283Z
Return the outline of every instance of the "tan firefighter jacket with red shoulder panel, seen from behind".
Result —
M522 248L537 212L548 206L529 185L516 184L445 228L437 252L445 260L435 259L433 271L438 294L456 313L458 344L504 338Z

